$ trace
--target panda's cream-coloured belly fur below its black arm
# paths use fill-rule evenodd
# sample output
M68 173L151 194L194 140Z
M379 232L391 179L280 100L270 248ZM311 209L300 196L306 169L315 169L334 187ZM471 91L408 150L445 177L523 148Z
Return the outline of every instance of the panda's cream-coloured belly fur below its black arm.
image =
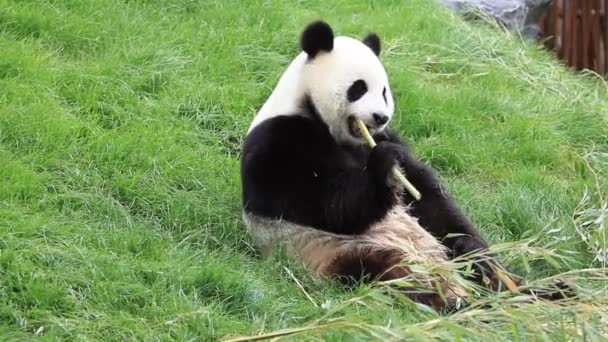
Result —
M245 224L262 255L277 247L302 261L317 275L325 273L330 263L353 250L370 252L394 250L405 264L437 264L447 260L445 247L407 214L402 205L359 235L325 232L285 220L272 220L243 213Z

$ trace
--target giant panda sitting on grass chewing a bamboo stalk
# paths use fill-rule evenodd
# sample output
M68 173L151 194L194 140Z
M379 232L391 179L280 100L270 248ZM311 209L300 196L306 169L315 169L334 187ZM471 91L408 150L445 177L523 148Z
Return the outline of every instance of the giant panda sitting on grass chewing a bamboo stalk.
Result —
M301 53L256 114L241 153L243 219L262 255L277 246L319 277L343 283L405 277L488 244L440 183L388 125L394 102L380 62L380 38L334 37L309 24ZM368 127L370 149L354 118ZM398 165L420 191L404 192ZM454 237L448 235L454 235ZM480 261L477 279L500 279ZM464 289L408 292L420 303L453 309Z

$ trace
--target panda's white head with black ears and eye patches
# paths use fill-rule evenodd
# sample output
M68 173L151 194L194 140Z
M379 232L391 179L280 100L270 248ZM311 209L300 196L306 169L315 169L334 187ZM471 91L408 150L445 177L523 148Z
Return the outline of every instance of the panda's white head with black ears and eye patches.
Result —
M375 33L361 40L334 37L327 23L317 21L302 32L301 47L307 55L302 86L337 141L362 142L354 118L371 134L388 125L394 104Z

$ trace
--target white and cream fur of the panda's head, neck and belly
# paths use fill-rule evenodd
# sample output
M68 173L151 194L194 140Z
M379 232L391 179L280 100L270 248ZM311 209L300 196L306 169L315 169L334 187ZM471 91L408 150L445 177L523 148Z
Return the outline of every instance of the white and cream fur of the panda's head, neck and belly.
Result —
M346 99L346 93L349 86L358 79L365 80L367 92L358 101L351 103ZM303 51L291 62L255 116L248 135L263 123L278 117L311 115L310 108L307 108L309 102L312 102L314 112L327 125L336 142L347 145L364 144L360 137L351 133L350 116L363 120L371 133L375 134L382 132L388 121L375 125L372 115L376 113L390 119L394 111L388 77L378 56L361 40L345 36L334 38L331 51L319 51L314 58ZM310 139L315 137L311 136ZM307 144L306 141L301 143ZM251 142L250 145L255 150L263 144ZM253 173L247 167L242 172L244 176ZM298 179L293 179L293 182L298 182ZM387 182L391 183L391 180ZM271 200L263 198L271 196L267 193L256 196L261 197L260 201ZM244 199L245 206L249 201L250 198ZM269 255L277 245L285 247L290 256L302 261L317 276L339 273L335 269L335 263L345 255L365 258L367 255L387 251L390 258L401 259L403 266L387 265L386 271L401 268L402 271L395 274L404 275L410 273L408 265L437 265L448 260L447 249L408 212L409 208L404 205L400 192L395 191L392 208L362 233L340 234L282 217L266 217L253 210L244 210L243 219L262 255ZM454 286L448 279L442 279L441 282L446 298L466 296L463 289ZM430 280L427 285L433 286ZM426 302L442 306L437 304L436 299Z

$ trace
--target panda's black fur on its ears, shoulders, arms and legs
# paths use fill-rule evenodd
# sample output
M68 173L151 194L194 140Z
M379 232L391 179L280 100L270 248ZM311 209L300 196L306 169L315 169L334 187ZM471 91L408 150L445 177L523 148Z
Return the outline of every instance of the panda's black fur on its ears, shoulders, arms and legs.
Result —
M326 25L316 23L304 31L301 44L308 58L314 58L319 51L331 50L333 36L327 37ZM369 35L363 42L379 54L376 35ZM345 281L387 280L407 275L407 268L394 267L400 261L399 253L388 247L369 247L357 240L395 210L416 218L421 227L441 242L447 258L488 247L446 192L435 171L417 159L394 131L387 128L376 132L377 146L373 149L364 144L339 142L321 118L314 100L305 95L300 101L299 112L270 117L255 126L245 139L241 158L242 196L244 217L251 229L265 229L263 234L276 234L273 238L279 240L283 239L279 237L282 225L290 226L284 239L300 231L303 236L308 234L303 242L293 243L293 248L318 253L316 257L321 260L315 261L313 267L319 273ZM396 163L420 191L420 200L387 182ZM411 225L415 229L415 223ZM332 254L328 249L335 246L349 247ZM441 249L440 245L436 249ZM325 255L331 256L327 257L331 260L324 260ZM433 260L443 259L439 256ZM499 278L490 264L500 267L491 260L476 264L477 280L485 275L496 286ZM440 296L412 297L435 307L453 304L444 303Z

